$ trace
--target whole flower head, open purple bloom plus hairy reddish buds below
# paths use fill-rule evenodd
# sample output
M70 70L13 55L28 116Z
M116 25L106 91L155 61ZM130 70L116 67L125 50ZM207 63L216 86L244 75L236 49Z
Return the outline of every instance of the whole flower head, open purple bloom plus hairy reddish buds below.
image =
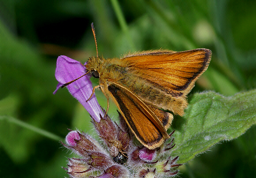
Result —
M56 91L65 83L85 74L83 64L67 56L59 56L55 77L59 84ZM92 117L94 128L103 142L98 142L90 135L70 131L63 145L76 153L79 158L69 158L66 169L71 178L126 178L126 177L158 177L175 176L178 173L178 156L171 157L173 140L165 142L154 150L137 146L132 133L119 114L120 125L113 122L100 107L92 93L89 74L67 85L68 91L86 108ZM174 132L174 131L173 131ZM173 132L170 134L173 134ZM105 146L102 146L102 144Z

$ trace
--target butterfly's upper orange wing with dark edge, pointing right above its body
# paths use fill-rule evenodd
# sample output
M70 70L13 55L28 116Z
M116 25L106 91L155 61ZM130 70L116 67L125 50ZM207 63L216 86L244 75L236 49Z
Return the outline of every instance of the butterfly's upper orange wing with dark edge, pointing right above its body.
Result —
M186 96L207 69L211 50L141 52L121 60L127 61L131 70L139 71L136 74L154 87L179 97Z

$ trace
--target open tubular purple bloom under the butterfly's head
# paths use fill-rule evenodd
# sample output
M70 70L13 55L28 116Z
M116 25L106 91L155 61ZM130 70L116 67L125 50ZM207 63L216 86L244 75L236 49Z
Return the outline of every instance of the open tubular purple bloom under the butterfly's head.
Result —
M76 78L79 78L85 74L85 66L67 56L59 56L56 64L55 78L59 82L56 91L65 83L70 82ZM86 102L92 93L92 84L90 82L90 76L86 75L79 78L77 81L67 86L68 91L74 96L83 107L89 112L95 121L100 121L100 115L104 115L95 94Z

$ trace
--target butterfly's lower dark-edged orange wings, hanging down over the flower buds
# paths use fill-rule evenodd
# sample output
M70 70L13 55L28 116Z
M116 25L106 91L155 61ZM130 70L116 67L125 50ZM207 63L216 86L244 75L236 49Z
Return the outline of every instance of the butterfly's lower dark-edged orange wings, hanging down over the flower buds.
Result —
M166 135L163 136L162 132L152 122L152 118L149 118L148 114L140 109L140 106L138 106L140 104L136 103L129 94L115 84L109 85L108 90L136 138L149 149L161 146L166 139ZM148 106L148 108L159 118L166 132L173 115L153 106ZM167 135L167 137L169 136Z

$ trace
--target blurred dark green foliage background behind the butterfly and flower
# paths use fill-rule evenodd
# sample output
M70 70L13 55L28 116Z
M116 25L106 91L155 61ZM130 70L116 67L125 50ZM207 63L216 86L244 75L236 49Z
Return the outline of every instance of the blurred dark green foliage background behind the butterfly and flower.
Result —
M105 58L159 48L211 49L211 64L191 94L231 96L256 88L255 9L255 0L0 0L0 177L68 176L61 167L72 155L58 141L67 128L94 132L67 89L53 95L57 56L84 63L96 55L91 22ZM102 93L96 96L106 107ZM256 177L256 126L192 159L180 173Z

